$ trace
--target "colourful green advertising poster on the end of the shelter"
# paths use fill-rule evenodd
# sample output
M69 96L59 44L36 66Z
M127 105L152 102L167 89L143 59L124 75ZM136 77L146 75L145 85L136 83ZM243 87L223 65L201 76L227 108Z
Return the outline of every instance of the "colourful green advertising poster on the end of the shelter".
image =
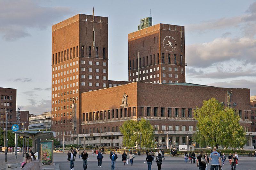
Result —
M53 163L53 141L41 142L41 159L44 165L51 165Z

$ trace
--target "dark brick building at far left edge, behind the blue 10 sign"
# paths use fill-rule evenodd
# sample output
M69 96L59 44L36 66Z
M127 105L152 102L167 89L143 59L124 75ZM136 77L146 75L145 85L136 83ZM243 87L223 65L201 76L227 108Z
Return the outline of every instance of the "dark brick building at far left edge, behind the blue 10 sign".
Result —
M0 87L0 128L4 130L5 109L7 111L7 129L12 129L12 124L16 123L16 93L17 89Z

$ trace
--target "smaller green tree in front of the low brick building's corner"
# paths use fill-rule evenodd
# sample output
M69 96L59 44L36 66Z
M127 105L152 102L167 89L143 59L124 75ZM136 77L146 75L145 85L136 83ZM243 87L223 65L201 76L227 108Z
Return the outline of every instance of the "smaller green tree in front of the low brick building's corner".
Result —
M123 144L127 147L152 148L154 146L154 129L149 121L141 119L140 121L125 121L120 127L123 134ZM140 146L141 136L141 146Z

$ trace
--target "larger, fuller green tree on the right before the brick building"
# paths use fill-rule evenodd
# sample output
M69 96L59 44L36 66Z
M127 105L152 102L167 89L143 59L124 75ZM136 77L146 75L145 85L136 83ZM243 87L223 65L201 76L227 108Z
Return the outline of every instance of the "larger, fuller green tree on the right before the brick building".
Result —
M201 146L241 148L245 142L245 132L239 124L240 117L234 109L224 106L215 98L203 101L196 107L194 115L198 121L194 140Z

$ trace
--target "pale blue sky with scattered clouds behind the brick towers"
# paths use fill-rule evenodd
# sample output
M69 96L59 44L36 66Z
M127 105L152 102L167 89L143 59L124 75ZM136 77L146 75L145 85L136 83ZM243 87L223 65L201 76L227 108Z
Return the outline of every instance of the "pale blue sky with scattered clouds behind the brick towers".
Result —
M108 77L128 81L128 33L141 18L185 26L186 82L256 95L256 1L0 0L0 87L17 107L51 110L51 26L78 13L108 17Z

